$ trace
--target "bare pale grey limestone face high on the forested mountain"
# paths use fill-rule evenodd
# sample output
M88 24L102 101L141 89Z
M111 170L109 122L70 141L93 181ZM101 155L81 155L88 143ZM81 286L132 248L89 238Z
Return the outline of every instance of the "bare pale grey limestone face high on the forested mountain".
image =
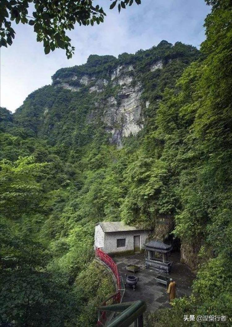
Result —
M83 87L87 87L93 96L104 93L107 86L117 90L114 95L96 101L89 120L96 117L100 108L103 109L101 119L111 134L110 143L118 148L122 147L123 137L136 135L143 128L142 106L147 104L141 101L142 86L135 80L133 65L118 65L106 78L85 74L81 77L74 75L65 81L57 79L56 82L72 92L81 92Z

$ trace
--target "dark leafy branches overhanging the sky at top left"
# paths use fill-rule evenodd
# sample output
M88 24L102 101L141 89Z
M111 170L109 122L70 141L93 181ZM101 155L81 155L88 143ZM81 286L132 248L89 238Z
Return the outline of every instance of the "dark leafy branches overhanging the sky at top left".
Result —
M119 0L110 5L113 9ZM140 0L135 0L139 5ZM31 3L31 5L30 5ZM119 1L118 10L131 6L133 0ZM33 8L32 17L28 10ZM55 48L66 51L67 58L71 58L74 47L71 39L66 35L67 30L74 29L74 25L98 25L104 22L106 15L102 7L94 6L92 0L2 0L0 3L0 47L11 45L15 38L15 31L11 27L11 21L16 24L29 24L34 26L37 34L36 40L43 42L44 52L48 54Z

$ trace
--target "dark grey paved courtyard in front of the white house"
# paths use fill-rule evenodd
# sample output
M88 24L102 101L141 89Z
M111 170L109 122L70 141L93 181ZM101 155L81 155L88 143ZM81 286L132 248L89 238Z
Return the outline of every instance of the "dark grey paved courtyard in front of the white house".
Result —
M162 307L171 307L168 302L166 286L157 283L155 285L155 277L158 276L159 273L149 268L146 269L143 254L114 256L113 260L118 266L119 273L123 277L124 283L126 274L133 274L132 272L126 271L125 266L133 264L140 267L140 272L135 273L135 276L139 277L136 289L134 291L132 288L126 286L123 302L143 300L147 303L147 311L149 312L154 312ZM178 252L171 254L170 261L173 262L172 270L167 276L176 282L176 296L190 296L191 285L195 275L186 265L180 263L180 254Z

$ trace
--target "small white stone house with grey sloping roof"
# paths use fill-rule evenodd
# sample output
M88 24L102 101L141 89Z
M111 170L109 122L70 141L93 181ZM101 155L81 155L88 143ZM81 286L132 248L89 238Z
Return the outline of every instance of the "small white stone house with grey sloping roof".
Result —
M100 222L95 226L94 249L105 253L138 252L144 249L149 230L128 226L122 221Z

